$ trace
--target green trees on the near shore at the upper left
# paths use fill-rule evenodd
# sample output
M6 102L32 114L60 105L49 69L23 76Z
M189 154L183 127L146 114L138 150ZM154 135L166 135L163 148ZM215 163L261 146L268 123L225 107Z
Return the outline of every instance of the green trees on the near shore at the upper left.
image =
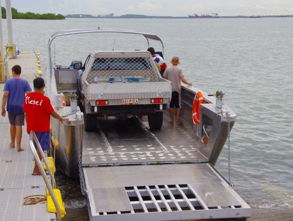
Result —
M17 9L11 8L12 11L12 19L38 19L38 20L63 20L65 17L62 14L39 14L39 13L32 13L26 12L21 13L18 12ZM6 19L6 9L2 7L2 18Z

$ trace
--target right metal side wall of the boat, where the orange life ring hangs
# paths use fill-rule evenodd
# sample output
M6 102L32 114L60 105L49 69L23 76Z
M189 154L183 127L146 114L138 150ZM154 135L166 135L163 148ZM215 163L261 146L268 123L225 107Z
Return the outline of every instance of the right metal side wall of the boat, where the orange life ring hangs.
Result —
M217 109L216 98L202 91L204 103L200 105L200 122L194 124L193 101L197 91L199 89L195 87L181 86L180 117L192 126L192 130L197 130L197 136L202 141L199 142L200 153L207 157L209 163L215 165L235 123L236 114L226 104L223 104L221 109Z

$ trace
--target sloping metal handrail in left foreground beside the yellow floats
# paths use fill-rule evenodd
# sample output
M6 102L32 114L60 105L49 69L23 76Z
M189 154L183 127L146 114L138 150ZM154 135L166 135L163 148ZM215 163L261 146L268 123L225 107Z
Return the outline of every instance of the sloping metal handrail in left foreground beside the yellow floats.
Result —
M45 154L44 154L44 152L42 150L42 147L40 145L40 142L39 142L38 138L36 138L35 133L33 131L30 131L30 134L29 134L29 146L30 146L30 150L32 152L32 155L34 157L34 160L36 160L36 164L38 164L38 167L39 167L39 169L41 171L42 177L43 177L43 179L45 181L45 185L46 185L46 187L47 187L47 189L48 189L48 191L50 193L50 196L52 197L54 206L56 208L56 213L57 213L56 219L58 221L61 221L61 210L60 210L60 206L58 204L58 201L57 201L57 198L56 198L56 196L54 194L54 191L53 191L53 189L52 189L52 187L50 185L49 179L46 176L46 172L45 172L45 170L43 168L43 165L42 165L41 160L40 160L40 158L38 156L38 153L36 153L35 146L33 144L33 139L34 139L34 141L36 143L36 146L38 147L39 152L41 153L41 156L42 156L42 158L44 160L44 163L45 163L45 165L47 167L47 170L49 172L50 178L52 179L52 182L53 182L52 185L53 185L53 188L54 188L56 186L56 181L55 181L54 176L53 176L53 173L52 173L52 171L50 169L49 163L46 160Z

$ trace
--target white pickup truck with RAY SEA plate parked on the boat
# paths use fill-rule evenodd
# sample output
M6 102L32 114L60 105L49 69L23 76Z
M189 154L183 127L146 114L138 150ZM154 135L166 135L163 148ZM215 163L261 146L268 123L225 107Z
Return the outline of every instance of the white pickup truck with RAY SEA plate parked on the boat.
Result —
M162 126L171 97L171 82L160 73L148 51L97 51L87 57L78 77L78 103L85 131L97 117L148 116L150 128Z

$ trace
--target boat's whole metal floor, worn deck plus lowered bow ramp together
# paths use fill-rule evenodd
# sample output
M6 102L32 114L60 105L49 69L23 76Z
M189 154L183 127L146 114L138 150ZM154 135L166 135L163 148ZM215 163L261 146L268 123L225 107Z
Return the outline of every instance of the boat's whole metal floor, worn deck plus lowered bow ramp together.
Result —
M250 207L200 152L191 126L170 126L166 120L161 130L149 131L143 118L99 120L95 132L84 133L82 171L91 220L250 216Z

